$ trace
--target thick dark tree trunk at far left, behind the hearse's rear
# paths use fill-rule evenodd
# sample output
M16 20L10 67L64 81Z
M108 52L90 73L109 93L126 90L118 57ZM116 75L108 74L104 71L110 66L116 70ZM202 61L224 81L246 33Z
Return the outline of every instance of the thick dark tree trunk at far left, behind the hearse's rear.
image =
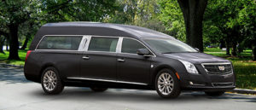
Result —
M20 60L18 55L19 40L18 40L18 27L19 25L9 25L9 60Z

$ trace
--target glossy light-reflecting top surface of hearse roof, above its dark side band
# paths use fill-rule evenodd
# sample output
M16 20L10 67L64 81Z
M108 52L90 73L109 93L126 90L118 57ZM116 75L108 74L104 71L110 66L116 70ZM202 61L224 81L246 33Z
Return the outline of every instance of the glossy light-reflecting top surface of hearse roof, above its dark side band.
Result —
M122 32L127 32L137 36L138 38L172 38L169 35L166 35L161 32L156 32L148 28L140 26L129 26L129 25L120 25L120 24L111 24L111 23L101 23L101 22L59 22L59 23L47 23L44 26L85 26L85 27L103 27L110 28L114 30L119 30Z

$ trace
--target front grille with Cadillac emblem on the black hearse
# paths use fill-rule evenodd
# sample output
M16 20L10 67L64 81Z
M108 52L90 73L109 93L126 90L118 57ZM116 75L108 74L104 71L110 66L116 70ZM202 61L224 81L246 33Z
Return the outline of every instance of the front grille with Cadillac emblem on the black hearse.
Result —
M202 63L209 74L230 74L233 72L232 65L227 63Z

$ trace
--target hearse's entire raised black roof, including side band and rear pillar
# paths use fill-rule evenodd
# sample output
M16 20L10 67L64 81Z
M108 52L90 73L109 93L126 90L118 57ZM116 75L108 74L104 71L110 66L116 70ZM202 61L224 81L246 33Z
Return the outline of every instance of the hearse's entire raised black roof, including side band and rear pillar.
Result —
M35 49L45 35L94 35L129 38L172 38L161 32L139 26L101 22L59 22L42 26L33 38L30 49Z

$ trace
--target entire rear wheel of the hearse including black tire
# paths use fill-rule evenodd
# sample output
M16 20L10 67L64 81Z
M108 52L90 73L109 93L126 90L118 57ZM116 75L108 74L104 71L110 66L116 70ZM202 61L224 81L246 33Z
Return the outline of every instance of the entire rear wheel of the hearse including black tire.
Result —
M64 89L59 72L54 67L47 67L41 76L41 85L46 94L60 94Z

